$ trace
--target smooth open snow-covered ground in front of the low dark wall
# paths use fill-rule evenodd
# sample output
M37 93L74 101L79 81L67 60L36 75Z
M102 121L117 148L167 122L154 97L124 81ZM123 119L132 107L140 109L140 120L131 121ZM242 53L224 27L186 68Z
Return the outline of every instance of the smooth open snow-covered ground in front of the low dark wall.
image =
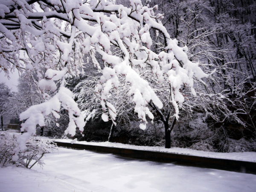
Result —
M255 192L256 175L59 148L44 169L0 168L0 192Z

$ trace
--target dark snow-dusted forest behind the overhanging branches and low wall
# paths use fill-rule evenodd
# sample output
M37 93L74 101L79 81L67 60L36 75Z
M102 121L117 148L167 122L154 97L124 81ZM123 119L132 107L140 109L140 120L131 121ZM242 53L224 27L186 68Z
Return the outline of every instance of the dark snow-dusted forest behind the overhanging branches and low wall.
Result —
M162 109L153 102L148 103L154 120L147 117L147 127L142 130L125 89L110 91L111 103L116 108L116 125L102 120L101 101L95 94L102 70L93 69L94 58L88 54L83 58L84 73L66 75L66 87L73 92L86 122L84 131L77 130L75 138L88 142L164 146L169 134L172 147L219 152L256 151L256 1L147 0L144 3L150 7L158 5L155 12L164 14L162 23L171 38L176 38L180 47L187 46L184 51L190 61L199 62L207 74L214 70L215 73L202 80L195 79L197 96L186 87L180 90L186 99L180 108L180 118L176 120L169 102L169 84L158 83L150 73L150 66L141 68L140 74L163 102ZM128 0L117 0L116 4L130 6ZM150 30L151 49L160 52L164 47L163 36ZM97 53L96 57L101 61ZM99 65L103 66L103 61ZM20 76L17 93L11 93L0 84L4 95L0 97L2 114L18 119L21 112L44 101L33 79L36 76ZM119 81L127 86L125 79ZM57 123L52 115L47 116L44 136L70 137L64 136L69 123L67 111L62 109L60 113Z

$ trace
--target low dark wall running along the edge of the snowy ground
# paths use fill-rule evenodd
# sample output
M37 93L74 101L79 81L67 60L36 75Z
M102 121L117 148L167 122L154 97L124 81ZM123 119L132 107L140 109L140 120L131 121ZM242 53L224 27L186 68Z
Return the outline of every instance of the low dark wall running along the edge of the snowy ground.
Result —
M185 154L174 154L165 153L158 151L143 151L128 148L115 148L115 147L104 147L96 145L83 145L78 143L62 143L55 142L58 146L86 149L91 151L105 152L118 154L122 157L130 157L142 160L151 160L163 163L177 163L185 166L198 166L209 169L221 169L235 172L244 172L256 174L256 163L238 161L238 160L227 160L227 159L215 159L209 157L198 157Z

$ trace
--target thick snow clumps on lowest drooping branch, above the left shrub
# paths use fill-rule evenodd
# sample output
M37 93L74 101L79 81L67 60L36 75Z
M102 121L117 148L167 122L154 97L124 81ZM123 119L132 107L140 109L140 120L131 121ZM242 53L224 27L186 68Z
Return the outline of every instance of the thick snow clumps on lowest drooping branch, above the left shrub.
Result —
M45 76L52 81L48 80L48 86L45 86L44 89L46 87L56 87L54 80L57 81L62 79L65 73L66 68L64 68L62 71L55 71L52 69L47 70ZM45 79L41 79L41 81L42 80ZM39 82L39 86L41 81ZM19 146L16 148L16 152L19 150L25 150L26 140L31 135L35 134L36 125L39 125L40 127L45 126L44 116L48 116L50 113L52 113L56 119L60 118L58 112L60 111L61 106L68 111L70 120L65 133L75 135L77 127L80 129L80 131L83 131L85 125L84 118L80 114L80 110L76 102L72 99L72 96L73 93L70 90L64 86L61 86L58 90L58 93L56 93L55 96L53 96L51 99L39 105L34 105L21 113L20 120L25 120L25 122L21 124L21 131L26 131L26 133L18 138L17 143Z

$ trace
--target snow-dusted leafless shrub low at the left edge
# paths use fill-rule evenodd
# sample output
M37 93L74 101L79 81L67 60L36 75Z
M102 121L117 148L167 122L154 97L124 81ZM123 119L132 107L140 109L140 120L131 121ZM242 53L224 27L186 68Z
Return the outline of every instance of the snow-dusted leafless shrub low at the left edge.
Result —
M41 158L46 153L52 152L57 146L52 140L42 140L38 137L29 137L26 140L26 150L14 153L17 147L17 136L19 134L9 134L4 132L0 134L0 165L15 164L31 169L36 163L44 165Z

